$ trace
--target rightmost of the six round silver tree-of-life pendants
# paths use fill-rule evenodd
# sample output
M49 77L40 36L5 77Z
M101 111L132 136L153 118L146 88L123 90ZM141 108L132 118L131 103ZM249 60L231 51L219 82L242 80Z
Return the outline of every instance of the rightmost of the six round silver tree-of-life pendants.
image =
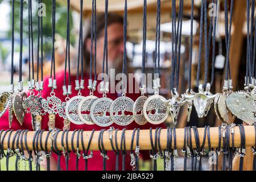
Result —
M163 96L154 95L147 99L143 106L143 114L148 122L158 125L166 121L169 108Z

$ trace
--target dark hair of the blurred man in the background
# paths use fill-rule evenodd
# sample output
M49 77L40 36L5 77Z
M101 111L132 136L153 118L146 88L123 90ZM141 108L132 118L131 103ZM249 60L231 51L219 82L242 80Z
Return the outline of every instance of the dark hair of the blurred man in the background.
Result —
M84 28L84 43L83 43L83 51L84 51L84 61L86 65L89 65L90 61L90 52L86 49L86 40L90 39L90 28L92 27L91 17L86 19L85 21L85 28ZM108 13L108 26L113 23L120 23L123 24L123 17L114 13ZM96 36L97 39L101 38L104 35L104 28L105 28L105 14L98 13L96 17ZM86 66L88 68L88 66Z

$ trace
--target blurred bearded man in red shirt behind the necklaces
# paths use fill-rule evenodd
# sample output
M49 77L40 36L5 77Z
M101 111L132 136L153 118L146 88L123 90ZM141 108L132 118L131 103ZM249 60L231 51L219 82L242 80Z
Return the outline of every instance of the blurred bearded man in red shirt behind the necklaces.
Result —
M97 34L97 74L102 72L102 57L103 57L103 50L104 50L104 14L98 14L97 15L97 27L96 27L96 34ZM90 18L86 20L86 27L84 29L84 61L85 61L85 74L84 74L84 80L85 80L85 89L81 90L82 96L89 96L89 89L86 89L88 85L88 79L89 79L89 60L90 60ZM108 63L109 63L109 69L115 68L115 72L122 72L122 57L123 57L123 17L118 16L115 14L108 14ZM92 52L94 54L94 51ZM64 59L65 57L63 57ZM74 61L71 59L71 61ZM76 65L76 63L72 63L73 65ZM57 68L57 67L56 67ZM128 71L129 73L129 71ZM94 74L93 74L94 75ZM92 75L92 76L93 76ZM68 75L65 75L68 80ZM92 79L94 79L92 77ZM57 80L57 89L55 89L56 97L59 97L62 101L65 101L65 96L63 96L63 80L64 80L64 71L59 71L56 73L56 80ZM71 76L71 84L72 84L72 95L77 96L78 91L75 90L75 80L76 80L76 70L74 69L72 71ZM98 84L100 81L98 81ZM50 96L51 88L48 88L48 77L44 79L44 90L42 92L42 97L47 98ZM117 93L106 94L108 98L111 98L112 100L115 100L115 98L119 97ZM94 92L94 96L102 97L102 93ZM140 94L134 94L134 93L127 93L127 97L130 97L134 101L140 96ZM3 115L2 118L0 118L0 129L7 130L9 129L9 123L8 121L8 111ZM48 130L48 114L43 116L42 119L42 130ZM56 121L55 126L59 129L63 129L63 118L60 118L59 115L56 115ZM115 129L122 130L130 129L133 130L134 128L141 128L141 129L149 129L150 127L155 128L155 125L151 125L150 123L146 123L144 126L139 126L137 123L133 122L128 126L118 126L113 124L112 125ZM159 125L158 125L159 126ZM161 125L164 127L164 125ZM26 114L24 118L23 125L20 126L18 121L16 121L16 118L14 117L13 130L18 129L28 129L32 130L31 125L31 115ZM99 131L102 129L102 127L97 125L75 125L71 123L70 130L76 130L76 129L83 129L87 131L92 131L95 129L96 131ZM105 129L109 129L109 127L105 127ZM127 150L129 150L127 148ZM140 151L142 154L142 157L144 159L149 159L148 151ZM115 154L113 151L108 151L108 156L110 160L106 161L106 170L113 171L115 170ZM130 155L129 152L126 154L126 170L131 170L132 167L130 166ZM57 155L52 152L51 156L51 170L56 169L56 161L57 161ZM61 156L61 169L65 170L65 159L64 156ZM76 169L76 155L71 152L70 159L69 159L69 170L75 170ZM79 170L85 169L85 162L83 159L79 160ZM122 155L119 155L119 170L122 169ZM93 151L93 158L88 159L88 170L102 170L102 156L100 155L100 151Z

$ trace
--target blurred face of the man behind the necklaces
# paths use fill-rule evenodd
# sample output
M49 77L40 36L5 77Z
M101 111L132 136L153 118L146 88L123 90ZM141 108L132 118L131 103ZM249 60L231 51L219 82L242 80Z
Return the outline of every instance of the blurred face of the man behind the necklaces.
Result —
M97 67L102 72L102 60L104 53L104 30L97 40ZM116 69L116 73L122 69L123 60L123 25L113 23L108 26L108 67Z

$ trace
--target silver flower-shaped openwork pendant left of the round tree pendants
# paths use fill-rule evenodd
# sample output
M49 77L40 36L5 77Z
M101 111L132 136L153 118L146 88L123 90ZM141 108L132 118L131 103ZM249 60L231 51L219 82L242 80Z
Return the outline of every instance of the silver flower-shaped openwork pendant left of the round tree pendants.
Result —
M57 114L58 106L61 105L61 100L56 96L47 97L42 99L42 107L45 112L49 114Z

